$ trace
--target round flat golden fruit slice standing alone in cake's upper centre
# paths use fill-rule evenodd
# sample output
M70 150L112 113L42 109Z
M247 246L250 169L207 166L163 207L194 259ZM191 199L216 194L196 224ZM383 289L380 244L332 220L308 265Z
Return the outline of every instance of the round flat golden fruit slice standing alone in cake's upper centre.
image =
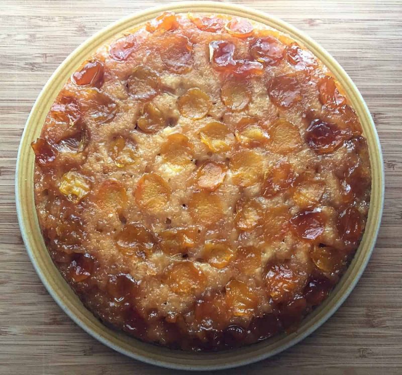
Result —
M180 114L191 119L202 119L212 107L210 97L197 87L189 88L177 100Z

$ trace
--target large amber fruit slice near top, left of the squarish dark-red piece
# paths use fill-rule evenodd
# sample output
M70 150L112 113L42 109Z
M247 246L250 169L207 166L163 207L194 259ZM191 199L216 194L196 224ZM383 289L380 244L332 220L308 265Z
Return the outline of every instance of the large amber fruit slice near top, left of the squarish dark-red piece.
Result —
M192 44L181 34L165 33L158 41L162 63L172 73L186 73L192 68Z

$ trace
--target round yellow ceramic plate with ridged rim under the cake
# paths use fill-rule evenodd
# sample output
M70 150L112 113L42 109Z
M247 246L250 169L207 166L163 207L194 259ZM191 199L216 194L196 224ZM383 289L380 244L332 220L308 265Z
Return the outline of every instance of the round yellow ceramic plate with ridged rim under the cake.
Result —
M217 353L173 351L172 349L139 341L122 332L109 329L100 323L81 304L78 297L65 282L54 266L45 247L35 211L33 194L35 158L30 144L39 136L45 117L58 92L81 62L114 36L149 21L163 11L176 13L191 11L247 16L250 20L289 34L291 38L300 41L310 49L331 70L336 79L345 88L347 96L359 116L364 136L368 143L372 172L371 201L366 229L352 263L335 290L320 307L303 321L303 324L296 332L282 334L256 344ZM287 23L249 8L215 2L175 3L149 9L122 19L86 40L57 68L40 93L25 126L17 158L16 201L18 220L28 254L50 295L75 323L105 345L132 358L176 369L212 370L256 362L294 345L321 326L345 301L370 258L380 225L383 197L384 171L377 132L363 98L342 67L322 47Z

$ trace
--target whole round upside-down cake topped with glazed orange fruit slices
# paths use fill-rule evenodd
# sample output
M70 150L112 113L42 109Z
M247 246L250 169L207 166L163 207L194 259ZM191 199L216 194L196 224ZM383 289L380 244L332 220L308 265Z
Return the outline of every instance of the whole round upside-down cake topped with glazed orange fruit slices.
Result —
M167 12L100 48L32 147L40 227L71 288L105 324L173 348L296 329L367 218L344 90L242 18Z

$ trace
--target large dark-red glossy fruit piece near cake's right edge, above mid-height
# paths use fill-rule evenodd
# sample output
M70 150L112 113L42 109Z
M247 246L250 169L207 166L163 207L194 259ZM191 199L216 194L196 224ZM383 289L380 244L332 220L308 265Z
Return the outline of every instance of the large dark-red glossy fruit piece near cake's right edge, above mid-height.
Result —
M319 154L335 151L344 141L351 138L349 129L338 129L335 124L315 119L306 129L306 142Z

